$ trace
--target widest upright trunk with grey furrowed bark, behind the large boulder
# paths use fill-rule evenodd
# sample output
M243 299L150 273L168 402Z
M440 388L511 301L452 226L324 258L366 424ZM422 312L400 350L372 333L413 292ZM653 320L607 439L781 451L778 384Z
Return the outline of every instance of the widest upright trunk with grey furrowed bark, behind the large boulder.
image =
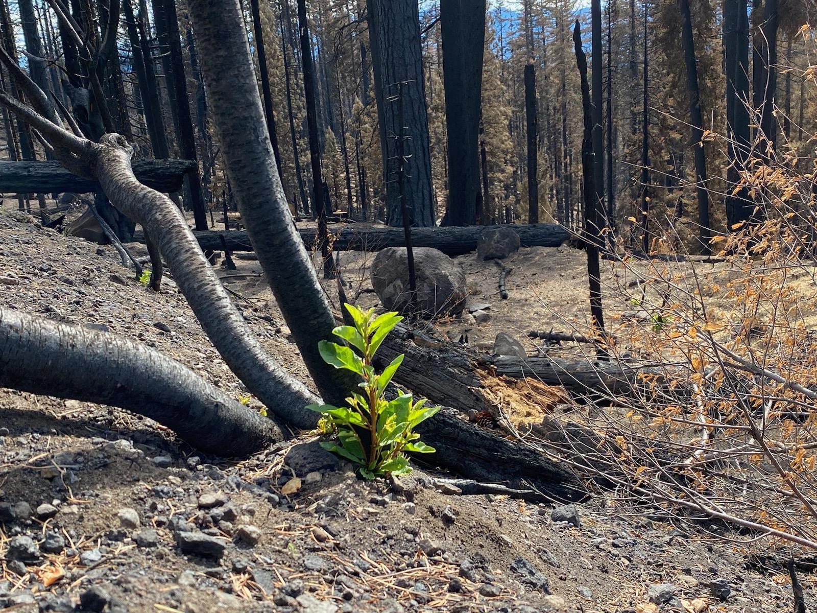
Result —
M372 52L374 92L380 128L383 182L386 185L386 223L403 226L397 187L397 104L390 98L397 83L404 83L406 142L406 198L412 204L412 226L434 226L431 191L431 150L428 141L425 79L422 74L420 16L417 0L368 0L369 46ZM482 47L480 47L481 51ZM480 52L480 59L482 55ZM476 155L476 145L474 145Z

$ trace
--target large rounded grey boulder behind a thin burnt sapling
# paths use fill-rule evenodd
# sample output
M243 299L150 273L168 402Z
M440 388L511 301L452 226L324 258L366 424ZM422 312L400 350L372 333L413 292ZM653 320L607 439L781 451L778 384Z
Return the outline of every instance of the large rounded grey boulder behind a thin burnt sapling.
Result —
M417 279L415 312L426 317L459 315L465 307L465 273L450 257L431 247L415 247ZM404 247L389 247L377 253L370 273L377 297L389 311L407 311L408 257Z

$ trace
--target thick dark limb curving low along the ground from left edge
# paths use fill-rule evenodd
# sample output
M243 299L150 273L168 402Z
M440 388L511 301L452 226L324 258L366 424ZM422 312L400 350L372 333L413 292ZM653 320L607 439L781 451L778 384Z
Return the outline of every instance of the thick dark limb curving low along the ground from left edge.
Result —
M127 409L221 456L283 439L271 419L150 347L2 307L0 386Z

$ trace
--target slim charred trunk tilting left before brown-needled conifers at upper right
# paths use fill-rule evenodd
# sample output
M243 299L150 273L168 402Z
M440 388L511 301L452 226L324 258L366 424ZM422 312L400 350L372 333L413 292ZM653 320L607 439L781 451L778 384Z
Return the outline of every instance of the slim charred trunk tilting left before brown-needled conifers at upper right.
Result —
M690 124L695 159L695 190L698 195L698 225L701 255L710 255L712 230L709 229L709 194L707 191L707 154L703 145L703 114L701 90L698 84L698 62L695 60L695 43L692 30L690 0L679 0L681 9L681 42L686 63L686 87L690 96Z

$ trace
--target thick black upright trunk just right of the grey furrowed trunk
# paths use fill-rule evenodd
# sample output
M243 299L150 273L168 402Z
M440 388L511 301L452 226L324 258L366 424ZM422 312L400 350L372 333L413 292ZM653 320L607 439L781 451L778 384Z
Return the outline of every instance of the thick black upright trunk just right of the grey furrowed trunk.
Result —
M449 199L443 224L470 226L476 222L480 193L484 0L441 0L440 31L449 159Z

